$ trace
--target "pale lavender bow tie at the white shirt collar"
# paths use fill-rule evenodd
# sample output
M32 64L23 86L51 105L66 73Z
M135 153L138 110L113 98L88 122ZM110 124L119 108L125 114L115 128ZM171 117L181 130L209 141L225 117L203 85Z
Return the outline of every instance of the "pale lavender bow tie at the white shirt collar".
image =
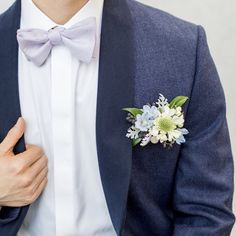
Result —
M26 58L37 66L44 64L56 45L65 45L76 58L89 63L96 42L96 19L87 18L68 29L19 29L17 40Z

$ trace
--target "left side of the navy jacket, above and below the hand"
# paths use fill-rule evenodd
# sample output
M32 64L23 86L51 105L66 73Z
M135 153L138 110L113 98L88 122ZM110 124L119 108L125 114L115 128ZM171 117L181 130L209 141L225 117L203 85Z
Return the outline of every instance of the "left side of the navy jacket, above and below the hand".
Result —
M0 140L21 115L18 93L18 46L15 27L19 23L19 2L5 14L0 15ZM21 138L14 148L15 153L25 150ZM3 207L0 211L0 235L16 234L26 215L28 206L19 208Z

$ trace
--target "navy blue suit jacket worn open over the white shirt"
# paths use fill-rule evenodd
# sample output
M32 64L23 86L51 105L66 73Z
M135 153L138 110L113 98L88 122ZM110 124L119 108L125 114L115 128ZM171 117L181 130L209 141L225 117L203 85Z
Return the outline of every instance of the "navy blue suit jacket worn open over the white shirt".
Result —
M21 114L20 12L17 0L0 16L0 140ZM121 109L154 102L159 93L190 98L184 107L187 142L172 149L132 149ZM233 163L225 110L202 27L133 0L105 0L96 131L101 179L118 235L230 234ZM22 138L15 153L24 148ZM16 235L27 210L4 207L0 235Z

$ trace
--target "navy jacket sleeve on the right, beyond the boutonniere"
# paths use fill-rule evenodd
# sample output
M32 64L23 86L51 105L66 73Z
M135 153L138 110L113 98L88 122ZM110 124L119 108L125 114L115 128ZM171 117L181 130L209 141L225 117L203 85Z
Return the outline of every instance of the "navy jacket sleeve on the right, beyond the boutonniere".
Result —
M228 236L234 224L233 158L224 92L201 26L185 126L190 133L176 170L173 235Z

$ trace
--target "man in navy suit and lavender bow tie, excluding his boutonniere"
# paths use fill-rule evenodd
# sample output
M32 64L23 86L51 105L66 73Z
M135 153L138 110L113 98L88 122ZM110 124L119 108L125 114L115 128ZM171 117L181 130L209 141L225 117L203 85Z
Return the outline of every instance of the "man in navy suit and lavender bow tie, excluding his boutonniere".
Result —
M204 29L100 1L17 0L0 16L0 235L230 235L233 160ZM132 147L122 108L159 93L189 97L186 142Z

